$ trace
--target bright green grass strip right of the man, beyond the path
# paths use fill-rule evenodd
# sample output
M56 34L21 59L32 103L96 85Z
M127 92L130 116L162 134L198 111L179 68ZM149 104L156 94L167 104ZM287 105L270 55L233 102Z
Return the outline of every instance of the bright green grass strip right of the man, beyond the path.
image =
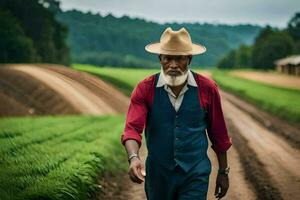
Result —
M291 123L300 122L300 91L275 87L252 80L234 77L229 71L214 70L213 79L229 91L258 108L281 117Z

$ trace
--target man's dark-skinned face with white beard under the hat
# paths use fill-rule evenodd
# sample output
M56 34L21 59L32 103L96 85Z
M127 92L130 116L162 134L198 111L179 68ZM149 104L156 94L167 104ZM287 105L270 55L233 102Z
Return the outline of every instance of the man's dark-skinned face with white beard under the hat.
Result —
M187 69L192 56L159 55L162 76L167 85L182 85L187 79Z

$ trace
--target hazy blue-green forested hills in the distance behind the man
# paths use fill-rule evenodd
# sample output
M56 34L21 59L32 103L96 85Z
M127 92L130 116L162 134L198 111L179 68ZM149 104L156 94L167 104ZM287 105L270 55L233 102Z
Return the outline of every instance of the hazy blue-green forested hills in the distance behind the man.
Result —
M199 23L159 24L139 18L111 14L102 16L78 10L60 11L57 19L69 28L68 43L77 63L127 67L157 66L157 57L144 50L159 41L163 30L186 27L193 42L204 44L207 52L196 56L193 65L215 65L220 56L240 44L252 44L261 27L254 25L214 25Z

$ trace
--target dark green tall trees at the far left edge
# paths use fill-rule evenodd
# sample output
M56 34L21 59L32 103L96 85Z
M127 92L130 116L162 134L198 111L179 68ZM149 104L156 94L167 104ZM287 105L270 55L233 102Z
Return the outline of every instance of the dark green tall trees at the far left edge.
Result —
M70 64L67 28L47 5L46 0L0 0L0 63Z

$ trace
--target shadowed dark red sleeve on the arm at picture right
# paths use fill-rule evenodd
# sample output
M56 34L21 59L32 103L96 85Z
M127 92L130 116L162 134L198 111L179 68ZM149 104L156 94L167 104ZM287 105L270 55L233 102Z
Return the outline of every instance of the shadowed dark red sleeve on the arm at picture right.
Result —
M212 143L211 148L216 153L226 152L232 145L225 124L221 97L216 83L214 83L209 94L207 132Z

